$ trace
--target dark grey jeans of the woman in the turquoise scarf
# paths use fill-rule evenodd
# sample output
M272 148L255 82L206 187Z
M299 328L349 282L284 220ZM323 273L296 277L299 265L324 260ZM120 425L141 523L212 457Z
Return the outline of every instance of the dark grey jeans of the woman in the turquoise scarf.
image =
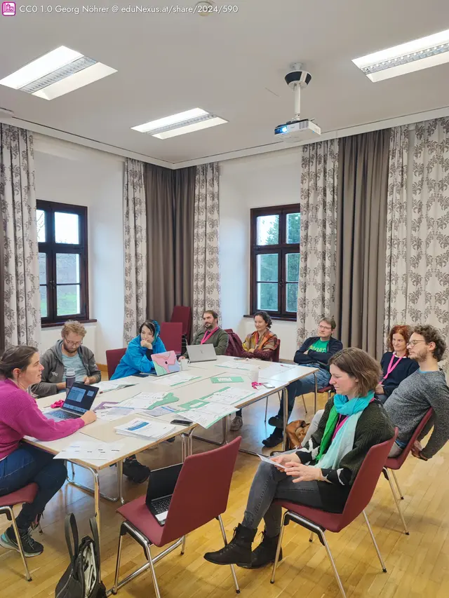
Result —
M316 480L294 483L293 478L283 471L269 463L260 463L251 484L242 524L250 529L257 529L263 518L267 536L278 536L281 531L282 509L280 505L273 504L274 499L283 498L298 505L323 509L319 483L328 484Z

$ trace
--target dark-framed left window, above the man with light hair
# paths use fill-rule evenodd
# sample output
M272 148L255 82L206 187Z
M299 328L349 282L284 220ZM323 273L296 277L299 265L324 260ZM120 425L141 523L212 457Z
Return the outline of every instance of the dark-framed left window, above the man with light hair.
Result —
M36 201L41 324L88 320L87 208Z

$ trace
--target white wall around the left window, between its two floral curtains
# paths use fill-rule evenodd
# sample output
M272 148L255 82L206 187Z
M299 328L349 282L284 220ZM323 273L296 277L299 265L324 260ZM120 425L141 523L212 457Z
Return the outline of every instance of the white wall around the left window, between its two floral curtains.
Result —
M107 348L123 346L123 158L35 135L36 198L86 205L90 318L86 345L98 363ZM60 338L42 329L41 350Z

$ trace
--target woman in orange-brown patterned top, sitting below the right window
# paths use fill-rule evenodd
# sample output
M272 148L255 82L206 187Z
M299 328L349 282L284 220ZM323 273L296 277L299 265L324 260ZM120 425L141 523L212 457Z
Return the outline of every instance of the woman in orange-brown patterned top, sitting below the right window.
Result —
M270 361L273 359L274 352L279 346L278 337L270 331L272 318L269 317L266 311L256 311L254 314L254 325L255 331L252 334L248 334L243 341L241 356ZM241 409L239 409L231 422L231 431L236 432L242 426L243 417Z

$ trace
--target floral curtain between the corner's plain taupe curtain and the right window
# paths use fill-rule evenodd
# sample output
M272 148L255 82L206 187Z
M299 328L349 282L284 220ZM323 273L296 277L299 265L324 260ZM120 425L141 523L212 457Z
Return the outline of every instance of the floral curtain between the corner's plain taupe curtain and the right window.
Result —
M218 164L196 167L194 207L193 333L203 327L203 313L220 314L220 264L218 257Z

